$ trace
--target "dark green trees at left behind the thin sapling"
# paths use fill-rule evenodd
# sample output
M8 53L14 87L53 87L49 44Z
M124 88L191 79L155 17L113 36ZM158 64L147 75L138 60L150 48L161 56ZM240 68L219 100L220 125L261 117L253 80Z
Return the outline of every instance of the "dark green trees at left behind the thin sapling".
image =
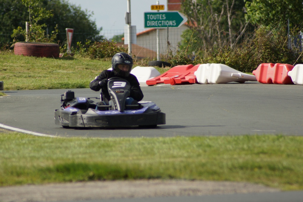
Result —
M52 11L53 17L39 20L39 24L45 24L49 33L55 30L58 24L59 43L66 41L65 28L73 28L73 43L81 41L85 44L86 39L90 41L101 41L101 28L97 28L95 21L91 20L93 13L82 11L81 7L71 5L66 0L43 0L38 8L45 8ZM10 35L14 29L20 26L25 29L25 22L28 21L28 8L20 0L0 0L0 46L1 44L11 43ZM46 33L45 33L46 34ZM23 39L24 40L24 39Z

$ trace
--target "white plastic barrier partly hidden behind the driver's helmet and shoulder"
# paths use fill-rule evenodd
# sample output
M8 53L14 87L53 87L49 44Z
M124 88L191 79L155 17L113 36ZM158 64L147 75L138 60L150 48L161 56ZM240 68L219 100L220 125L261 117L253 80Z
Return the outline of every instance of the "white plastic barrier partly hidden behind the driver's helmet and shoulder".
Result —
M140 84L145 83L148 79L160 76L160 72L154 67L137 66L132 69L131 74L135 75Z

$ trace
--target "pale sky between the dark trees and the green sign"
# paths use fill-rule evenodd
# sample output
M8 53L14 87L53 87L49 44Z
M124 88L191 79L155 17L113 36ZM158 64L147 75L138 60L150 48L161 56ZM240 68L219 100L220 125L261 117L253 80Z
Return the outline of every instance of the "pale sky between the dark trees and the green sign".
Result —
M165 5L167 0L158 0L160 5ZM124 32L125 12L127 12L127 0L68 0L70 4L80 5L82 10L94 12L92 20L95 20L98 28L102 27L102 35L110 38ZM156 12L151 10L151 5L156 5L157 0L130 0L132 25L136 25L137 33L146 30L144 28L144 12Z

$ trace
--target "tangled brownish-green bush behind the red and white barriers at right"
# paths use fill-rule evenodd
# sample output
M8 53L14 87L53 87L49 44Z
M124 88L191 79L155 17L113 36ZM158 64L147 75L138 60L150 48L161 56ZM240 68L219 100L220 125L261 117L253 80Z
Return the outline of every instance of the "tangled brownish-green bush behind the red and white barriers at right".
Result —
M300 54L296 49L288 49L285 28L276 30L259 27L251 36L246 36L237 48L225 46L222 49L201 51L196 64L221 63L238 71L252 72L261 63L302 63Z

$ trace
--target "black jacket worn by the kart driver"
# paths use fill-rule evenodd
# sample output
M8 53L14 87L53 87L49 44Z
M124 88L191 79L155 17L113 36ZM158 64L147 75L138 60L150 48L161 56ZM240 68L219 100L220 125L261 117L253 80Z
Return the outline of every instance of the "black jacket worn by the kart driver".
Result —
M134 98L134 100L141 101L143 99L143 92L140 88L139 81L138 81L137 77L132 74L129 74L127 77L122 77L122 76L115 75L112 70L104 70L98 76L96 76L96 78L94 80L92 80L89 83L89 88L92 89L93 91L100 91L100 89L102 88L102 91L101 91L102 98L105 102L108 103L108 101L110 100L110 95L108 93L107 85L104 87L101 87L99 85L99 81L102 81L105 78L109 79L112 77L123 78L129 82L129 84L131 85L130 97Z

